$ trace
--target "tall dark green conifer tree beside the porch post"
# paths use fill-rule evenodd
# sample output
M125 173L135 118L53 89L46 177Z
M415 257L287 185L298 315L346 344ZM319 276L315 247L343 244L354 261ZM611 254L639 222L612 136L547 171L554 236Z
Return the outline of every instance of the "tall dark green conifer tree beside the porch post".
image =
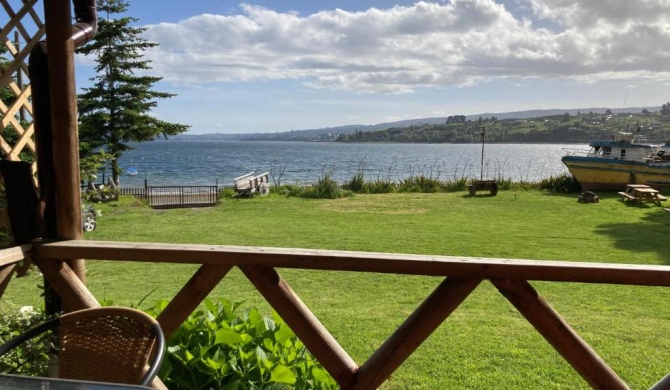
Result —
M152 141L158 136L167 138L189 127L151 115L158 99L175 95L152 90L161 77L135 74L151 69L150 61L143 59L143 52L158 44L141 37L146 29L131 26L138 19L113 18L127 12L128 7L125 0L99 1L98 33L91 43L77 50L80 54L97 56L93 86L84 88L79 95L80 156L84 159L100 148L115 156L111 166L112 179L117 185L121 172L118 158L130 149L128 143Z

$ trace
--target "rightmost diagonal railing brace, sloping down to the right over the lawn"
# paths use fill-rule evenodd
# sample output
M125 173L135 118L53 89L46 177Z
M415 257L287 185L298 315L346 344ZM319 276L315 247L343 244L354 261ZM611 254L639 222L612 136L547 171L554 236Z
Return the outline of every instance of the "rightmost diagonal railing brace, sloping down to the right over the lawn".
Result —
M628 389L628 385L582 340L525 280L491 280L528 322L594 389Z

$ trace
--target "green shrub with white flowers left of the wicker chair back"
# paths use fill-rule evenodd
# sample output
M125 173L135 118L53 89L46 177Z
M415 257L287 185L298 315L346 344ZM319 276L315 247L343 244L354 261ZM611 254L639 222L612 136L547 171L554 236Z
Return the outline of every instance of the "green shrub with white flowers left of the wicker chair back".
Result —
M24 306L18 310L12 305L5 306L0 317L0 344L44 322L45 319L44 312L32 306ZM50 338L50 334L35 337L0 357L0 372L46 376L51 350Z

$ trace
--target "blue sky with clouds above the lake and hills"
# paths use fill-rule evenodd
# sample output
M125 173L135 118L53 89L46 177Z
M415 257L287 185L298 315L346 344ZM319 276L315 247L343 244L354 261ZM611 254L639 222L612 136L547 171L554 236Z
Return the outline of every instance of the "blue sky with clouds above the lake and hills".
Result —
M667 0L130 0L128 16L176 94L153 114L189 134L670 101Z

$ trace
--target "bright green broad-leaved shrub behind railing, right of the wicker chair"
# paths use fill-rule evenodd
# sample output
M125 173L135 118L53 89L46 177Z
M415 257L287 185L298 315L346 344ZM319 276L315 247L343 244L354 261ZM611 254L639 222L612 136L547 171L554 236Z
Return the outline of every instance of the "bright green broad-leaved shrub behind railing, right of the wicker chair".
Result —
M337 388L276 314L240 312L239 303L226 300L205 300L204 306L168 340L159 376L171 390Z

